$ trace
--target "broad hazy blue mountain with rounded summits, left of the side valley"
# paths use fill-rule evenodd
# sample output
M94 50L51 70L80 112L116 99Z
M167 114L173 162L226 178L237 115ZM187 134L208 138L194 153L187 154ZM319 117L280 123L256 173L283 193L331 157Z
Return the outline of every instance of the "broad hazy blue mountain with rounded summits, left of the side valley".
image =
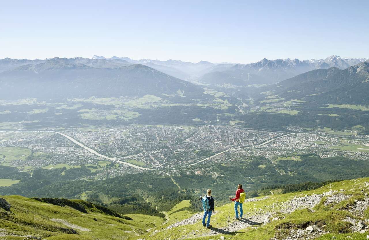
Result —
M119 59L54 58L0 73L3 99L168 96L179 92L181 96L195 98L203 95L203 89L197 85Z

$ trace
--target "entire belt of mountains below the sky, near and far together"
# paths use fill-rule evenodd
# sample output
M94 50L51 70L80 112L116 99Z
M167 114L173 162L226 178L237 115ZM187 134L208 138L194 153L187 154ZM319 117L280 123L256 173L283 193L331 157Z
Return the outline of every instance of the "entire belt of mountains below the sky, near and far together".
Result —
M89 96L189 96L200 99L200 85L167 74L203 74L199 81L234 86L279 82L261 88L284 99L309 99L319 103L367 104L368 64L365 59L263 59L251 64L190 63L177 60L132 60L94 56L46 60L0 60L3 99L36 97L64 99ZM354 66L351 64L359 63ZM165 73L167 72L167 73ZM208 72L204 74L205 72ZM369 89L369 88L368 88ZM349 93L349 94L348 94ZM264 95L256 100L264 100ZM363 102L363 99L365 100Z

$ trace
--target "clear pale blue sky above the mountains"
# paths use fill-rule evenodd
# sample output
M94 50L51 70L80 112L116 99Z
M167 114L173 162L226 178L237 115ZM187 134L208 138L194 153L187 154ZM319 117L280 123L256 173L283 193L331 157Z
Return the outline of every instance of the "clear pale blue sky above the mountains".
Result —
M368 9L368 0L1 1L0 59L369 58Z

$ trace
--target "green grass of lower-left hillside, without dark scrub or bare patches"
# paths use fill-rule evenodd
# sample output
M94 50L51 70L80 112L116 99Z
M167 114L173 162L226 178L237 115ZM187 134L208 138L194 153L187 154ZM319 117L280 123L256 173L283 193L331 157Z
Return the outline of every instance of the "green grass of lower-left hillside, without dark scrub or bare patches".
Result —
M154 216L132 215L134 220L113 217L96 208L86 208L88 213L77 211L70 207L60 207L46 204L31 198L21 196L4 196L10 204L10 218L0 214L0 229L5 229L10 237L4 239L23 239L14 235L32 235L52 239L128 239L138 238L147 229L155 227L163 219ZM3 209L1 209L3 210ZM1 211L2 212L2 211ZM94 218L97 219L94 220ZM82 231L74 227L79 233L66 234L71 227L50 219L62 219L78 227L89 229ZM64 228L64 229L63 229Z

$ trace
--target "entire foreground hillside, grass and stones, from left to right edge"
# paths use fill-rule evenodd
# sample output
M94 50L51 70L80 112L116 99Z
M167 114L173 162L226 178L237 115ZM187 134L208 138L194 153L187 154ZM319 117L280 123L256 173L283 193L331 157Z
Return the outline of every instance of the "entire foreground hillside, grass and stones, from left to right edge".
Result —
M99 239L167 240L366 239L368 187L369 178L362 178L332 182L315 190L275 192L249 198L243 204L244 218L240 220L234 219L232 203L216 206L210 229L202 227L201 212L189 211L189 200L166 212L164 220L140 214L122 219L82 200L3 196L0 198L3 210L0 234L4 239L23 239L24 236L42 239L96 239L97 236ZM81 211L80 206L87 213ZM30 214L34 216L32 219L28 218Z

